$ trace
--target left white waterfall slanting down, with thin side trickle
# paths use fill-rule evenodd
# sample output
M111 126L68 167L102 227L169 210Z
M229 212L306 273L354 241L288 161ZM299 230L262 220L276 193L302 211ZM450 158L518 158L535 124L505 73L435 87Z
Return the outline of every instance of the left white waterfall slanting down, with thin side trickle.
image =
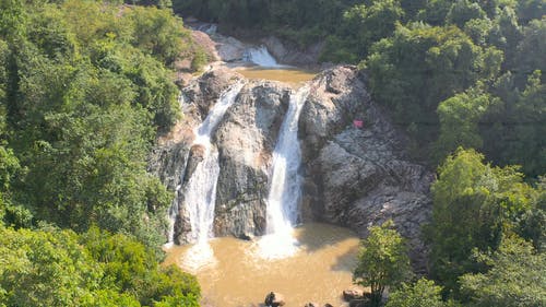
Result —
M183 204L189 212L191 223L190 238L198 244L206 243L212 236L212 226L214 222L214 208L216 201L216 185L219 175L218 151L211 143L211 134L219 123L229 106L235 103L237 95L242 88L244 83L237 83L224 92L213 108L210 110L205 120L194 130L195 139L191 147L200 150L202 161L197 165L193 174L183 188ZM177 192L181 187L177 187ZM175 200L169 210L171 227L174 227L176 216L179 212L178 201ZM169 243L174 241L174 229L169 231Z

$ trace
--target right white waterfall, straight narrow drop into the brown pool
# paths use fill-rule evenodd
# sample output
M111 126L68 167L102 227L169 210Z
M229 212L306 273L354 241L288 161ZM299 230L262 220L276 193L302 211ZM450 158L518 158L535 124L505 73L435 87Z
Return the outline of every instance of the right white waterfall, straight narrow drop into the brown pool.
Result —
M298 220L301 198L298 120L308 95L309 87L305 86L290 96L288 111L273 152L266 235L259 243L260 253L266 258L284 258L296 251L297 241L293 237L293 228Z

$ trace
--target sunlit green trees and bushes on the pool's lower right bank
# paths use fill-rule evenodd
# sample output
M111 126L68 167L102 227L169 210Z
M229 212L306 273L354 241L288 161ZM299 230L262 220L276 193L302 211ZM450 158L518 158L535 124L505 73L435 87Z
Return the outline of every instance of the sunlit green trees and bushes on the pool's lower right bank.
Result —
M423 229L434 281L407 275L404 244L389 224L370 228L354 271L356 282L371 285L369 306L381 305L385 286L388 307L546 305L546 178L533 187L517 167L483 160L459 149L439 168Z

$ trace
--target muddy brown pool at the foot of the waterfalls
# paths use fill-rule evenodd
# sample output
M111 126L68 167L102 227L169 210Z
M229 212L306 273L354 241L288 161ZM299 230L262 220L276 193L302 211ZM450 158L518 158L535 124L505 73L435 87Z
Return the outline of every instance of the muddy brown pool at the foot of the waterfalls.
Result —
M264 256L263 238L225 237L209 246L175 246L165 264L198 276L202 306L261 306L271 291L283 294L287 307L309 302L345 306L341 294L352 287L358 238L346 228L319 223L295 228L294 236L294 251L284 258Z

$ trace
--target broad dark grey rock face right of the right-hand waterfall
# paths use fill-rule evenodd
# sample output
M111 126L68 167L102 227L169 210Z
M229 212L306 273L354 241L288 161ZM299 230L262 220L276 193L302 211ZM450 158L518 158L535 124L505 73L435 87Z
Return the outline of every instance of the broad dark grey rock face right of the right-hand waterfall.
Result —
M313 82L299 131L305 216L348 226L360 236L392 219L424 270L419 234L430 214L434 175L407 158L403 134L370 101L354 68L327 71Z

